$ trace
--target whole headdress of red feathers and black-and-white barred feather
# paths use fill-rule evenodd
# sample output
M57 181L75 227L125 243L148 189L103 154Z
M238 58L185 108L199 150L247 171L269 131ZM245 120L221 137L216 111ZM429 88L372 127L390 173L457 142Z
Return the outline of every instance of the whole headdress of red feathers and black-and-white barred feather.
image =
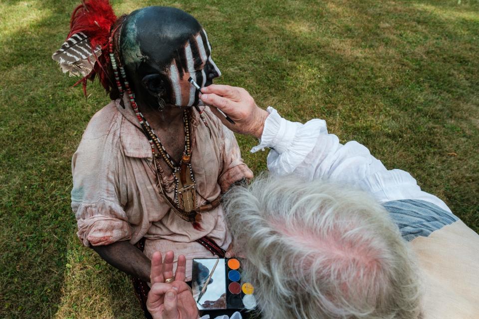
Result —
M100 82L105 87L103 82L108 79L105 68L109 63L107 46L116 19L108 0L83 1L73 10L65 42L51 56L64 73L83 77L76 84L83 83L85 94L86 80L93 80L96 73L100 73Z

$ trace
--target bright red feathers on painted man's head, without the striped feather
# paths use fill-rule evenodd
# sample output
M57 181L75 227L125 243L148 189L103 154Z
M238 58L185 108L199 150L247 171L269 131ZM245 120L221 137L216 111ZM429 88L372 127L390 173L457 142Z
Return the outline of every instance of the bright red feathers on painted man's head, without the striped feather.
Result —
M88 36L92 53L94 48L101 46L101 55L97 56L93 70L90 74L84 77L75 85L82 83L83 92L86 96L86 79L93 81L95 75L98 73L98 78L101 85L109 91L113 87L110 77L105 71L109 64L108 44L110 41L111 26L115 23L117 17L113 12L113 8L108 0L87 0L78 5L71 15L70 33L67 39L77 32L83 32Z

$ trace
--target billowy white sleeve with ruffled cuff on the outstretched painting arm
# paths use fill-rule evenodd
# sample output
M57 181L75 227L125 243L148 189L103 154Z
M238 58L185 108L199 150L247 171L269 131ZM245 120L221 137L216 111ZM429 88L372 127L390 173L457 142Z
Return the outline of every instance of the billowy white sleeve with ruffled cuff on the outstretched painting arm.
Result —
M269 116L264 123L261 140L251 152L271 149L267 157L271 173L352 184L370 192L381 203L422 199L450 211L441 199L422 191L408 172L386 169L380 160L356 141L340 144L337 136L328 134L324 120L293 123L281 118L272 107L268 107L267 111Z

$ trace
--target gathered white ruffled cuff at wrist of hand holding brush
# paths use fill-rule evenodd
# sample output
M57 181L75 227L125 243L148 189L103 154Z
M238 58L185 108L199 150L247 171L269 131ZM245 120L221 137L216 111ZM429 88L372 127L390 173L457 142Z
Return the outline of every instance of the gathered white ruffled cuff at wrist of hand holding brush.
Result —
M264 151L264 148L270 148L281 154L291 146L299 123L283 119L278 111L270 106L266 111L268 111L269 116L264 121L263 134L259 140L259 145L253 147L250 152L255 153L259 150Z

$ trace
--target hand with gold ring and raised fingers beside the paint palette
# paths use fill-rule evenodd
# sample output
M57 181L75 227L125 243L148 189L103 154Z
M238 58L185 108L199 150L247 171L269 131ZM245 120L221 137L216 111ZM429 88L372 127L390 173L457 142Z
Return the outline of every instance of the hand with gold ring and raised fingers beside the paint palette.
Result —
M185 283L185 256L178 257L175 281L165 283L165 280L173 278L174 258L174 253L169 251L162 263L161 253L153 254L150 274L152 286L146 307L153 319L198 319L198 307L190 287Z

